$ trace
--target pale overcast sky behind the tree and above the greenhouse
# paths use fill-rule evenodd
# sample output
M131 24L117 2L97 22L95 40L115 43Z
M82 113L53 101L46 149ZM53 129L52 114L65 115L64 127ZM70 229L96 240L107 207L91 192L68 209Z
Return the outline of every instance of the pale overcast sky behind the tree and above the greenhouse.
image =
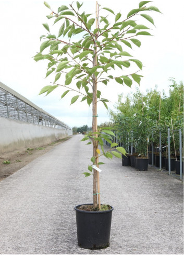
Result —
M42 87L54 82L51 76L45 79L47 62L35 62L32 58L40 51L40 36L45 35L46 32L42 24L50 24L51 20L53 24L53 19L46 18L46 15L51 14L51 10L43 2L43 0L0 0L0 81L70 127L83 125L90 127L92 107L84 102L76 102L70 106L71 97L76 94L71 93L60 99L64 91L59 87L46 97L38 95ZM46 2L57 12L60 5L69 5L72 1L47 0ZM126 17L131 9L138 8L139 2L137 0L98 1L101 7L111 8L115 13L121 12L122 17ZM138 38L141 41L140 48L134 46L131 50L125 47L124 50L143 63L143 69L139 73L144 76L141 79L140 90L144 93L157 85L157 90L160 92L164 90L167 94L171 84L168 81L169 77L175 77L178 83L183 81L184 3L183 0L155 0L150 5L156 6L163 13L149 13L154 19L155 27L149 21L142 20L142 24L152 29L149 32L153 37L140 36ZM83 10L94 14L95 1L84 0ZM107 13L109 20L111 17L114 19L111 13ZM138 24L141 22L139 21ZM58 31L58 28L50 25L50 30ZM120 69L115 70L115 72L119 71ZM124 75L130 73L127 70L123 72ZM129 88L111 82L107 86L101 86L100 90L103 98L110 101L108 107L114 109L118 94L126 95L134 92L136 87L138 87L136 83ZM97 114L98 124L109 121L107 110L101 103Z

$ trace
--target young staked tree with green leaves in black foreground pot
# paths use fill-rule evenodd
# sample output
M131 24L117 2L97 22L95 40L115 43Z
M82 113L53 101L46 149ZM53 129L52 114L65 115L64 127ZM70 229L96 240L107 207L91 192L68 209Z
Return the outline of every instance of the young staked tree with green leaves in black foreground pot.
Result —
M101 249L109 246L113 207L108 204L101 205L99 165L103 162L100 162L99 158L102 155L108 159L112 159L113 155L121 158L121 154L126 153L122 147L114 148L118 145L112 143L114 133L111 128L104 127L97 130L97 103L102 102L108 109L108 99L102 97L97 85L101 83L106 86L110 81L117 82L121 86L131 86L132 81L140 83L142 75L137 72L142 69L142 63L134 59L125 51L125 48L131 49L132 43L140 47L141 42L137 39L138 36L151 35L147 31L148 27L132 20L136 15L141 15L154 25L153 19L145 13L146 11L160 12L160 10L154 6L145 6L149 2L140 2L138 8L131 10L123 19L120 13L115 15L112 9L102 8L97 2L94 17L82 10L83 3L62 5L54 11L48 3L44 2L45 6L51 9L47 18L54 20L54 24L60 25L56 36L50 32L50 26L47 23L43 24L47 35L41 36L44 41L34 60L47 60L46 76L55 74L55 78L54 83L43 87L40 94L48 95L56 88L63 87L65 91L61 98L70 92L76 92L76 96L71 98L71 104L81 98L82 102L85 101L93 106L92 132L82 139L82 141L89 140L87 144L92 143L93 146L88 172L84 172L85 176L93 174L93 204L75 207L78 244L82 248ZM107 19L108 14L113 16L112 23ZM125 75L122 74L122 69L129 68L130 64L137 65L138 69L131 74L128 72L125 72ZM115 69L120 69L119 75L115 74ZM75 79L77 82L73 83ZM111 149L107 152L103 147L103 138L111 143Z

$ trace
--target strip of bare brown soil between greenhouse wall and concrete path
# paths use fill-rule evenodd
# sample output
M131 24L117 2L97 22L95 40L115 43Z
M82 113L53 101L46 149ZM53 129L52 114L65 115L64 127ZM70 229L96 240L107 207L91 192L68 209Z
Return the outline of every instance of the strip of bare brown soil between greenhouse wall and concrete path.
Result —
M62 143L70 138L71 137L60 139L50 144L42 145L38 148L28 148L24 151L9 153L4 158L0 157L0 181L15 173L35 158L45 154L57 144Z

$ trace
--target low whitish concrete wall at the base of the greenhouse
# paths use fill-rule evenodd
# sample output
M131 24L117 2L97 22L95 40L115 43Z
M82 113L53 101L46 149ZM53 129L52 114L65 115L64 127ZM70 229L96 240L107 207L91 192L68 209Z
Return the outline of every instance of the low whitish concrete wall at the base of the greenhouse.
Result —
M25 148L41 147L72 135L72 130L55 129L0 117L0 157Z

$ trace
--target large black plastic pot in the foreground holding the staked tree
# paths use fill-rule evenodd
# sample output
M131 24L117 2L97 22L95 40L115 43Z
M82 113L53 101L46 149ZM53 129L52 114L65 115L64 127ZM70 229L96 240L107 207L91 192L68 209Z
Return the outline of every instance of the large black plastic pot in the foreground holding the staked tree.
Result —
M92 205L92 204L87 204ZM78 246L85 249L103 249L109 246L113 207L103 212L85 212L77 209Z

